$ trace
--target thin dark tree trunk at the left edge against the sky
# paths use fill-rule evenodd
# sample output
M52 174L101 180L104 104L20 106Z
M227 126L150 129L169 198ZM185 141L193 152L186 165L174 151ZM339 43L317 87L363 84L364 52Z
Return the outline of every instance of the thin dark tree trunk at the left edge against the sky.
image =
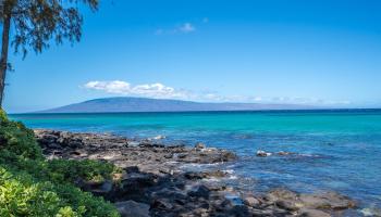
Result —
M4 10L3 26L2 26L2 41L1 41L1 58L0 58L0 108L2 108L2 101L4 98L5 76L8 68L8 48L11 28L11 13Z

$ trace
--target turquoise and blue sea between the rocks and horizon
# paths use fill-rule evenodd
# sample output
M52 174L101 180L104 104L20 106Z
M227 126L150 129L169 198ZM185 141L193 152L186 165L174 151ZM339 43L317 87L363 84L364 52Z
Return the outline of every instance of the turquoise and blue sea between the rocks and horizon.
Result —
M238 188L299 192L334 190L381 207L381 111L201 112L11 115L32 128L113 132L127 137L163 135L163 142L235 151L239 161L210 165L231 170ZM257 157L256 151L290 156Z

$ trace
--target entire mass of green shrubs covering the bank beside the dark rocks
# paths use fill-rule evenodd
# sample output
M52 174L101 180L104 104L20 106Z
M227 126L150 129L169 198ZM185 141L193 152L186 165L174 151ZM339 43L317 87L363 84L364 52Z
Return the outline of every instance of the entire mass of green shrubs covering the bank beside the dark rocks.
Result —
M116 217L112 204L74 186L115 171L97 161L47 161L33 131L0 112L0 216Z

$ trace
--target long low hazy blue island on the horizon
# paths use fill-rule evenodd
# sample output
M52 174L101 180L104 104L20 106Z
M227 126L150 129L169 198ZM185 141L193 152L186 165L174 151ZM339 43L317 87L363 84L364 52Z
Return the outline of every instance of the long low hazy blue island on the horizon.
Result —
M207 112L207 111L262 111L312 110L311 105L262 103L205 103L182 100L148 98L103 98L70 104L38 113L120 113L120 112Z

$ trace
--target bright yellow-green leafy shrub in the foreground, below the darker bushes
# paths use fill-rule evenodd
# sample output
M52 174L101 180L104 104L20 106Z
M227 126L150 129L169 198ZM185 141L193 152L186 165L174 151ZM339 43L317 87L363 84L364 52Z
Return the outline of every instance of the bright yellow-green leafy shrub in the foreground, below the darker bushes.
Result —
M36 180L0 166L0 216L119 216L101 197L74 186Z

